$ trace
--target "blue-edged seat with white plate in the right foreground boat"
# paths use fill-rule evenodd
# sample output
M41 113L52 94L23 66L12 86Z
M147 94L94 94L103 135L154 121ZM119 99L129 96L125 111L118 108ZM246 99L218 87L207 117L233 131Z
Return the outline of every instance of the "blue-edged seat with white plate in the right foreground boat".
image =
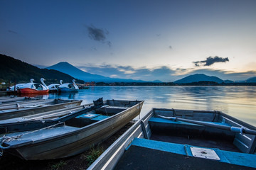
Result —
M193 154L194 148L208 149L207 156L215 152L218 159L199 158ZM115 169L255 169L252 160L256 154L134 138Z

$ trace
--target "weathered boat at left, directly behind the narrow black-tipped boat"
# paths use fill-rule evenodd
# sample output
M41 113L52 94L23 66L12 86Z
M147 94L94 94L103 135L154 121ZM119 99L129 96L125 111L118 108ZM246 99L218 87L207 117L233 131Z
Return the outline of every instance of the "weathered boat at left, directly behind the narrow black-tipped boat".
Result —
M19 103L0 105L0 120L19 118L26 115L35 115L46 111L55 111L61 108L80 106L80 100L43 99Z

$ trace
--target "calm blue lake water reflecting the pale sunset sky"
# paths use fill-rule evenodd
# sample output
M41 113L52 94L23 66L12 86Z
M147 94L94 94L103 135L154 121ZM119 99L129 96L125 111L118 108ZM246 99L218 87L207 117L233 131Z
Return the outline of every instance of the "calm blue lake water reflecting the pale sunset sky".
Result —
M76 94L44 98L144 100L141 116L151 108L222 111L256 126L256 86L91 86Z

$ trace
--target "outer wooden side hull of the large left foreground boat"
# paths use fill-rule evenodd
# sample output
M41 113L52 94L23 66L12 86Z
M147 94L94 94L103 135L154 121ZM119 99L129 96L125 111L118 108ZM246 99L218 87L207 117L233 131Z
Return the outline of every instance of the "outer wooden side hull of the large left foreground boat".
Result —
M8 152L18 154L18 157L26 160L59 159L79 154L106 140L124 127L139 115L142 105L143 101L105 120L78 128L74 132L56 135L45 140L29 140L20 146L10 147Z

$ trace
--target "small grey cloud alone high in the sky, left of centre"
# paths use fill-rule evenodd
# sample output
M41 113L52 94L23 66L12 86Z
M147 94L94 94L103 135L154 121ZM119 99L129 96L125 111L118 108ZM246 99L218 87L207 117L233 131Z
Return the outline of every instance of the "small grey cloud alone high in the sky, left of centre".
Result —
M95 28L95 26L86 26L86 27L87 27L89 38L102 43L107 43L109 47L112 46L112 43L106 38L106 35L109 34L109 31L107 29L103 30L100 28Z

